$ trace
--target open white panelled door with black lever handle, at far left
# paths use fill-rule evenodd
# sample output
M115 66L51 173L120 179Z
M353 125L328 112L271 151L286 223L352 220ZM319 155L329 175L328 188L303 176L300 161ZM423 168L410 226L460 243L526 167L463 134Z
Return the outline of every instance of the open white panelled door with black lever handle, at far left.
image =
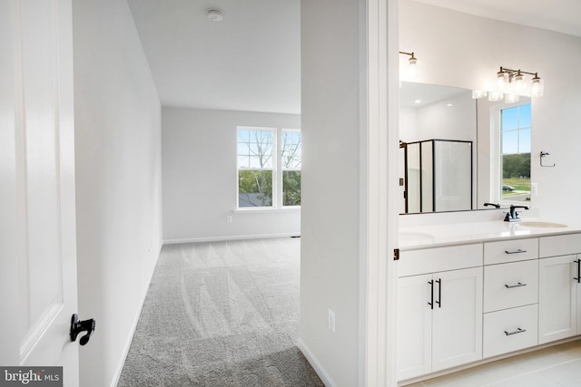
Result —
M0 365L78 385L71 0L0 2Z

